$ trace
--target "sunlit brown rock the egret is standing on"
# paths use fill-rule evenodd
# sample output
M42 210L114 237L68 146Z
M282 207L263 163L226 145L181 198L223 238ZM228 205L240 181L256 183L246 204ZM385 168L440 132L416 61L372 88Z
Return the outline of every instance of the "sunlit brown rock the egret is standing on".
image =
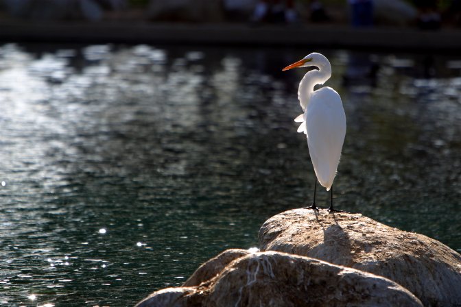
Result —
M259 245L261 251L284 251L384 276L425 306L461 306L460 254L362 214L289 210L263 224Z

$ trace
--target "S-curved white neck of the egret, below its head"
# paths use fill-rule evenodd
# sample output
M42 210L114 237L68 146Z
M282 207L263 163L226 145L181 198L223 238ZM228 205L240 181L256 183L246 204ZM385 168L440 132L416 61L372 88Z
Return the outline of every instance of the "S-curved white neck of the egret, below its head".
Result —
M330 77L331 66L329 64L318 67L318 70L308 71L304 75L298 88L298 99L303 111L309 104L312 93L314 93L314 86L316 84L324 84Z

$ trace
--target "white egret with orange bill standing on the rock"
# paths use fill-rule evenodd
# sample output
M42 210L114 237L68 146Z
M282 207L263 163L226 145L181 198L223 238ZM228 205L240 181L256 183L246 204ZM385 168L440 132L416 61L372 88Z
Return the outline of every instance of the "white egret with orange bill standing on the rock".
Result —
M308 71L299 84L298 99L304 114L300 114L294 121L300 123L298 132L304 132L307 136L309 154L318 182L327 191L331 191L329 211L338 211L333 209L332 186L346 136L346 114L342 108L341 97L333 88L324 86L314 90L316 84L324 84L331 77L331 64L325 56L311 53L303 60L285 67L283 71L307 66L316 66L318 70ZM314 201L308 207L311 209L317 209L317 180L314 185Z

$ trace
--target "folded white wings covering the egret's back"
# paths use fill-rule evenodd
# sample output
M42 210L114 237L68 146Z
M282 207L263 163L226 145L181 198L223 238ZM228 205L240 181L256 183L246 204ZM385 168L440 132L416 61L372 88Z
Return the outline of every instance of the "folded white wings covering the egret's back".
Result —
M346 115L340 95L333 88L314 91L306 109L307 144L320 184L333 185L346 135Z

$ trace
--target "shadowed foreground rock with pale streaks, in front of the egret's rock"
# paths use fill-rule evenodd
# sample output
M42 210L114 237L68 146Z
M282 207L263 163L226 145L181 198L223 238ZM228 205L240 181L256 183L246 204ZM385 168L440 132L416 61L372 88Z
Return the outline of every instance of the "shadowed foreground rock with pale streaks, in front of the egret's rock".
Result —
M198 286L163 289L137 305L154 306L422 305L410 291L386 278L312 258L266 251L236 258Z

